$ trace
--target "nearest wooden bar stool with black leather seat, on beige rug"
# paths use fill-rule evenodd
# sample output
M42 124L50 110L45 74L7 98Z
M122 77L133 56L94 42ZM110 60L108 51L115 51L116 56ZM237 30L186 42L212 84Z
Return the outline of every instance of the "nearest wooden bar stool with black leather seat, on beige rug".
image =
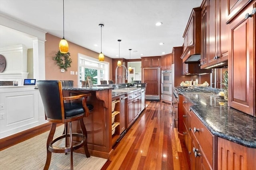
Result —
M87 131L84 125L83 117L85 115L89 115L86 100L88 96L91 96L91 94L79 94L76 96L63 97L62 82L58 80L38 80L37 86L44 105L46 120L52 122L52 127L46 143L47 158L44 165L44 170L48 170L50 166L52 152L65 154L70 152L70 169L73 170L74 150L84 147L86 157L90 157L87 147ZM81 103L71 101L80 98L82 98ZM64 103L66 100L70 100L70 102ZM79 120L82 133L72 133L72 121L77 120ZM68 129L65 128L64 135L60 135L59 137L53 139L56 125L58 123L64 123L66 127L69 124L69 133ZM76 137L76 139L82 140L80 142L74 142L73 136ZM54 143L63 138L65 138L65 147L53 146ZM70 139L69 146L68 138Z

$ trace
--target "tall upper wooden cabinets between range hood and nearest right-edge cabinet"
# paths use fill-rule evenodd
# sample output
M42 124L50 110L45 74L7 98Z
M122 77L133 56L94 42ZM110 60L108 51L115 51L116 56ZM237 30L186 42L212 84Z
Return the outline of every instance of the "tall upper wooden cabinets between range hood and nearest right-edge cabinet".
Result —
M228 60L228 1L204 0L201 7L201 68L223 67Z

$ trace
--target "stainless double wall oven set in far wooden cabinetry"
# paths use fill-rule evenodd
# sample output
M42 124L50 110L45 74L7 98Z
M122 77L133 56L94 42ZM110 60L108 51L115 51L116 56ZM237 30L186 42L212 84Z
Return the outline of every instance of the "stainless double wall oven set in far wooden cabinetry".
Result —
M161 100L172 102L172 70L162 70L161 72Z

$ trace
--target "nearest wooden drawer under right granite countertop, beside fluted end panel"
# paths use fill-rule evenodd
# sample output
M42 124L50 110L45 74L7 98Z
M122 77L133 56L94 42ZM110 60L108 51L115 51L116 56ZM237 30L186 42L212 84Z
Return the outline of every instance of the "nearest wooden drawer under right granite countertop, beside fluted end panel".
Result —
M192 134L198 140L199 145L201 146L202 150L204 150L204 154L212 167L214 136L208 131L208 129L206 129L206 127L193 112L191 112L191 127Z

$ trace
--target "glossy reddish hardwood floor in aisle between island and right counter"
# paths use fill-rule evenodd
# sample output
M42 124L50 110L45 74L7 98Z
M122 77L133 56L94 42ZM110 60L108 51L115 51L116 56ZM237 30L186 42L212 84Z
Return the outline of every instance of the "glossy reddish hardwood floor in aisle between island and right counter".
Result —
M114 146L102 170L189 170L184 142L178 138L170 104L146 101L148 107Z

